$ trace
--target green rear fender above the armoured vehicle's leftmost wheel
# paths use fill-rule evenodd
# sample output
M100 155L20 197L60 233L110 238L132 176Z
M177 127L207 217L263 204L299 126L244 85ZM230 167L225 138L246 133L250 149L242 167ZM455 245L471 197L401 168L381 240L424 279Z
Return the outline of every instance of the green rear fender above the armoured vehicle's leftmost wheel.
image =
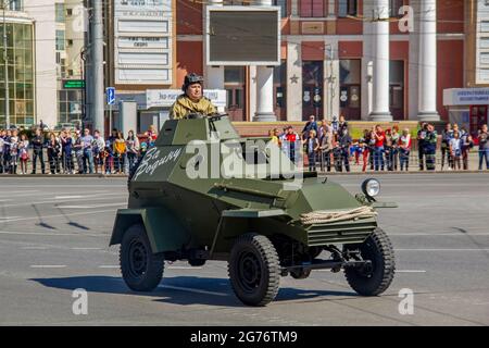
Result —
M124 233L134 224L142 224L153 253L176 251L190 235L170 210L159 208L120 209L115 217L110 246L122 243Z

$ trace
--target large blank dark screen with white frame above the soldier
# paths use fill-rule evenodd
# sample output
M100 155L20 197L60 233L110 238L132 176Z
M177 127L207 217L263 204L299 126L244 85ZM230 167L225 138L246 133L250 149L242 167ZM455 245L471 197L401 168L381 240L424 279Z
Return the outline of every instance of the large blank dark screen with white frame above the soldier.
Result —
M208 7L208 65L279 65L280 8Z

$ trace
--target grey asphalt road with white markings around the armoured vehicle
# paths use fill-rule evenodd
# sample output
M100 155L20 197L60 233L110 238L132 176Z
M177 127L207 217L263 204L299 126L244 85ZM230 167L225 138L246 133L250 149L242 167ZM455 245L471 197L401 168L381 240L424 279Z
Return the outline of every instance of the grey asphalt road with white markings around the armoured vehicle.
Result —
M351 191L362 176L331 176ZM398 273L359 297L342 273L281 279L277 300L243 307L224 262L167 264L154 293L121 278L109 237L127 199L123 178L0 177L0 325L489 325L489 174L383 175L380 213ZM72 311L88 291L88 314ZM399 290L414 291L400 314Z

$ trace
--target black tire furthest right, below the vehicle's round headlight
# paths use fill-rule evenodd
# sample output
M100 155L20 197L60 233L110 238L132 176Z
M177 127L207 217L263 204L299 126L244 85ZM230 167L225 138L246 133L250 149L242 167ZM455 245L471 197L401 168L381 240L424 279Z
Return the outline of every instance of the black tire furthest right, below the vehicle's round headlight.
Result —
M371 269L344 269L352 289L362 296L377 296L387 290L394 276L396 261L392 244L386 233L377 228L363 244L347 248L360 249L362 258L372 261Z

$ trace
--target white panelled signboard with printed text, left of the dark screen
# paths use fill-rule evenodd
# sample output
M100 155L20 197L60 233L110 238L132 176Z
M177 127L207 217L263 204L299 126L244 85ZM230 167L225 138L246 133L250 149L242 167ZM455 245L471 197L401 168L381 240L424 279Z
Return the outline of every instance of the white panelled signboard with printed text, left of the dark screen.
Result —
M172 84L172 0L114 1L115 84Z

